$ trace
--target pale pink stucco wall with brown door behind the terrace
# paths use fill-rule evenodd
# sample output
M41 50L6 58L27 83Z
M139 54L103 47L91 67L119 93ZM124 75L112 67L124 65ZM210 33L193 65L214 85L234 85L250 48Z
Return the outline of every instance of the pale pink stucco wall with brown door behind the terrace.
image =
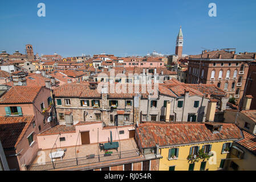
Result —
M129 130L134 129L133 126L123 126L116 128L103 128L102 123L92 123L86 125L75 125L75 133L64 133L54 135L38 135L38 147L42 150L56 147L68 147L82 144L80 132L90 131L90 143L108 142L110 140L110 131L112 131L113 140L123 140L129 138ZM99 130L99 138L98 138ZM120 130L124 130L124 134L119 134ZM118 136L119 134L119 136ZM66 140L60 142L59 137L65 137ZM56 143L55 143L56 141Z

